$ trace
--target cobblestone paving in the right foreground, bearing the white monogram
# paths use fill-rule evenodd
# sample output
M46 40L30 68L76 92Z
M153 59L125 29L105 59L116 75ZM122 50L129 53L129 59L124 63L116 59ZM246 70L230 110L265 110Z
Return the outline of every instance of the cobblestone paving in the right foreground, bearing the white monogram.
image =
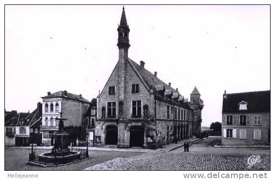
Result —
M166 153L146 153L132 158L115 158L86 170L270 170L270 149L213 148L215 137ZM260 155L261 161L248 167L248 158Z

